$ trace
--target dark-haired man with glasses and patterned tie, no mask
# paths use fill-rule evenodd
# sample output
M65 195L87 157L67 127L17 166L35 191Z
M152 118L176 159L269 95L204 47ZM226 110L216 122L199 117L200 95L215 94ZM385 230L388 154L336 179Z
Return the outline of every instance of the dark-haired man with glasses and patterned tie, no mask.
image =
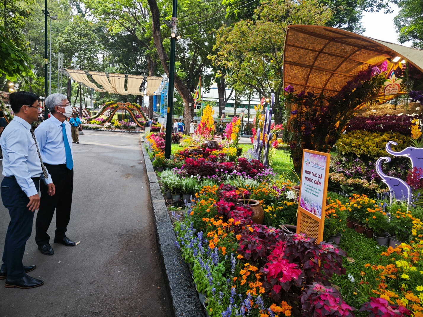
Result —
M19 91L11 93L9 100L15 116L0 137L5 176L0 192L3 205L10 215L0 279L6 279L5 287L32 288L42 285L44 281L26 274L36 265L23 266L22 258L26 241L31 236L34 211L40 205L40 178L46 195L54 196L55 185L44 167L31 127L41 111L38 97Z

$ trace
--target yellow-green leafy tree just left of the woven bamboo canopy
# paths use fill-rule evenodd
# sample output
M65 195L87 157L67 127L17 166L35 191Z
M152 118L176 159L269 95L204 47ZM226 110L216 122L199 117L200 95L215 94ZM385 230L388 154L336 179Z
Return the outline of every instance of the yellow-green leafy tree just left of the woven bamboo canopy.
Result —
M255 10L255 20L241 20L233 26L221 27L210 57L216 66L231 74L234 89L255 90L261 96L275 93L275 120L283 112L279 96L283 88L283 46L286 28L291 24L324 25L332 11L316 0L268 0Z

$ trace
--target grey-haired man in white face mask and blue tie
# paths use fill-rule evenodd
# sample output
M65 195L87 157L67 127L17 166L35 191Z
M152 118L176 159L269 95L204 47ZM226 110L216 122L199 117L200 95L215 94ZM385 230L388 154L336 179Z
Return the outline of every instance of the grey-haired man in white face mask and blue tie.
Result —
M71 125L66 121L72 115L72 108L66 95L53 93L46 98L46 107L51 117L35 130L41 157L56 186L54 196L47 194L47 186L41 184L40 208L35 223L35 242L42 254L53 255L47 234L56 209L56 231L54 243L74 246L66 237L71 217L72 191L74 185L74 162L72 155Z

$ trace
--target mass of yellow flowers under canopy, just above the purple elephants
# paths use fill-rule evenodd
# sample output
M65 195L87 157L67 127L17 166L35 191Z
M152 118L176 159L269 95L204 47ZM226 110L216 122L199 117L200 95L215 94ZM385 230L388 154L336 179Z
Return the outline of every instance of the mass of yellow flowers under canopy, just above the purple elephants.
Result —
M354 153L358 157L367 155L371 158L378 158L388 155L385 150L388 141L397 142L398 145L394 146L393 150L401 151L409 146L410 139L398 132L383 133L357 130L341 135L336 142L336 148L343 154Z

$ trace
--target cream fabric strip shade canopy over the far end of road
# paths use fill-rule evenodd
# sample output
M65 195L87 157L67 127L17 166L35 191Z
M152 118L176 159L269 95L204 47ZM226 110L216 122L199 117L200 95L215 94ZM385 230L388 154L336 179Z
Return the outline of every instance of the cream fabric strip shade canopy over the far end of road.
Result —
M88 74L91 75L95 82L102 86L102 88L99 88L88 79L85 71L69 68L65 68L65 70L75 82L80 82L95 91L117 93L120 95L143 95L143 92L140 92L140 87L145 82L147 83L146 96L154 95L154 92L157 91L163 80L162 77L155 76L106 74L101 71L88 71ZM125 77L127 77L126 90Z

